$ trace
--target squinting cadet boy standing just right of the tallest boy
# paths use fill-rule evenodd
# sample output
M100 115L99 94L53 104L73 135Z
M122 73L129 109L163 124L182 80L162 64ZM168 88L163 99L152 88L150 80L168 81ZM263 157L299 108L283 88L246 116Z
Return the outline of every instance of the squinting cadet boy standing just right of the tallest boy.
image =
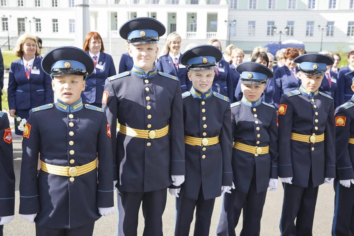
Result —
M230 102L211 88L221 58L222 52L209 45L181 56L193 86L182 94L185 181L182 190L169 189L177 196L176 236L189 235L195 208L194 235L209 236L215 198L232 186Z

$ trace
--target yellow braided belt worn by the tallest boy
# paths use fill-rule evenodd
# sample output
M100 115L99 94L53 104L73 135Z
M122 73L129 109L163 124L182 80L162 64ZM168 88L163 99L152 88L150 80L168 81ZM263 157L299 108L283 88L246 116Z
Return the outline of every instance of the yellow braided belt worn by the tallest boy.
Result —
M162 129L155 129L155 130L135 129L124 125L120 125L119 132L135 138L154 139L154 138L164 137L166 134L168 134L169 125L166 125Z

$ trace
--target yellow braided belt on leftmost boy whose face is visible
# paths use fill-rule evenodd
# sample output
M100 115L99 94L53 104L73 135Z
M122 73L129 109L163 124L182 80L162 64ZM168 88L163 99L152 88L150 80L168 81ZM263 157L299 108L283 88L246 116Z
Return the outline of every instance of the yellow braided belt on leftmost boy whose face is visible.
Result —
M97 158L94 161L91 161L90 163L87 163L82 166L75 166L75 167L57 166L42 161L41 169L42 171L50 174L75 177L75 176L89 173L90 171L96 169L96 167L97 167Z

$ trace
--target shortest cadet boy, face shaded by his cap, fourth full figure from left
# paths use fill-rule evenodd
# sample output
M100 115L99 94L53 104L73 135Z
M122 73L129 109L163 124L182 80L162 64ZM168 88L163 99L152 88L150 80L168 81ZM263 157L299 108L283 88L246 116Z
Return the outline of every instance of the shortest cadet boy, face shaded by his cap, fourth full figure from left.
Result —
M273 105L261 101L273 72L255 62L241 63L243 97L231 104L234 189L224 195L217 235L235 235L241 209L241 236L259 235L267 188L278 187L278 129Z

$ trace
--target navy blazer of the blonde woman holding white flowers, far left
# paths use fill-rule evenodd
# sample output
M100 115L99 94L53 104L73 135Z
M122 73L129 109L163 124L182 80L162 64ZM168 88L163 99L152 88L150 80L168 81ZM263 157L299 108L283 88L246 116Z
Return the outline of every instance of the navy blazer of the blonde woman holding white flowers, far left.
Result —
M54 102L52 79L44 73L41 58L35 57L32 70L36 67L39 75L34 72L26 77L22 58L11 63L8 75L7 99L10 109L30 109Z

